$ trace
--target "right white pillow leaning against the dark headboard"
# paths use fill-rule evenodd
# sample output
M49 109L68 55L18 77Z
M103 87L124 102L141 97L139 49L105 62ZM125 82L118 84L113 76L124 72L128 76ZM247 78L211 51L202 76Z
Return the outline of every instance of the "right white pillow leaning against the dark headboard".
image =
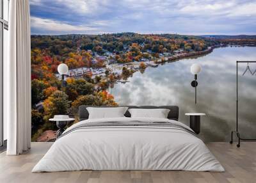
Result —
M170 109L129 109L132 118L167 118Z

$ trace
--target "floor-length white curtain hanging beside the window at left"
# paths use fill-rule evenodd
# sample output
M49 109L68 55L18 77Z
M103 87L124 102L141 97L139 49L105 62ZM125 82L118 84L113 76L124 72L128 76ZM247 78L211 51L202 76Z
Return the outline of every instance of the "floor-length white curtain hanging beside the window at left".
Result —
M29 0L10 1L9 61L4 63L4 120L7 152L18 155L31 144L31 66Z

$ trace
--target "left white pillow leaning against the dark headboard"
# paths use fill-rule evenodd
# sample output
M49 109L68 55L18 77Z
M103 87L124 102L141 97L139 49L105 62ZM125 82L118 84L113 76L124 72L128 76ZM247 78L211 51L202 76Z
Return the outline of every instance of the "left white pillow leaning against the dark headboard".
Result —
M89 113L89 119L96 118L120 118L125 117L124 114L128 107L86 107Z

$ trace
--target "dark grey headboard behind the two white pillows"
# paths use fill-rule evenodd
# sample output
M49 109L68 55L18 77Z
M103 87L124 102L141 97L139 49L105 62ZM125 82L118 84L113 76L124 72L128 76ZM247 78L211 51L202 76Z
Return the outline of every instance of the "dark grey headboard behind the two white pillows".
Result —
M79 121L87 120L89 117L89 113L86 107L112 107L112 106L79 106ZM179 120L179 107L178 106L119 106L119 107L129 107L131 108L139 108L139 109L170 109L167 118L169 120ZM131 117L129 111L126 111L124 114L126 117Z

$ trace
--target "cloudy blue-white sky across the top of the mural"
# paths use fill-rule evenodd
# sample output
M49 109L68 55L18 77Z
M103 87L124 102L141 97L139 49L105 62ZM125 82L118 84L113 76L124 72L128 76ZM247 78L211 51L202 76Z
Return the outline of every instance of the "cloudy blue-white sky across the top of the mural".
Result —
M30 0L31 33L256 35L255 0Z

